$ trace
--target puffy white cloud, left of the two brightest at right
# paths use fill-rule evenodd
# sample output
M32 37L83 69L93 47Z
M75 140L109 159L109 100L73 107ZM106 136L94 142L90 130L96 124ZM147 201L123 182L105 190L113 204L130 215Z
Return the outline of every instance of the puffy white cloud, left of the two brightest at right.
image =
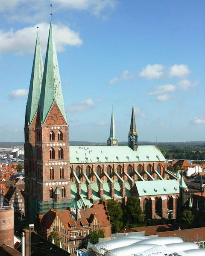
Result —
M146 68L140 72L139 76L146 79L160 78L164 74L164 68L164 65L161 64L147 65Z

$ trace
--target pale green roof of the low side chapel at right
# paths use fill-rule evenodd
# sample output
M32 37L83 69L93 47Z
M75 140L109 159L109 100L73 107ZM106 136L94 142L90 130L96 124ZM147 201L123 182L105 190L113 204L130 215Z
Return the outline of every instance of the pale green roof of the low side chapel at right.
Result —
M139 196L178 194L179 183L176 179L136 181Z

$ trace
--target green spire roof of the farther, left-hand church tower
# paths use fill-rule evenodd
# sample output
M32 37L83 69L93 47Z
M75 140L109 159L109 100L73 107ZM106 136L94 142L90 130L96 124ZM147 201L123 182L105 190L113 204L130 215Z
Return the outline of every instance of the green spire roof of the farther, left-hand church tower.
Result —
M26 114L27 114L29 125L32 123L32 120L38 109L43 71L44 71L44 65L43 65L43 59L41 54L41 46L40 46L40 42L37 34L31 80L30 80L30 86L29 86L29 95L28 95L28 100L26 105Z

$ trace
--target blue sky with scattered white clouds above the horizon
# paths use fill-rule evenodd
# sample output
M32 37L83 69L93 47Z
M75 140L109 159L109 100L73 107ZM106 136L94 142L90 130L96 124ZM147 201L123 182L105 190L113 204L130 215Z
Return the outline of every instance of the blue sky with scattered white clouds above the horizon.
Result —
M24 141L37 30L50 4L70 141L205 141L205 1L0 1L0 141ZM38 26L38 29L37 29Z

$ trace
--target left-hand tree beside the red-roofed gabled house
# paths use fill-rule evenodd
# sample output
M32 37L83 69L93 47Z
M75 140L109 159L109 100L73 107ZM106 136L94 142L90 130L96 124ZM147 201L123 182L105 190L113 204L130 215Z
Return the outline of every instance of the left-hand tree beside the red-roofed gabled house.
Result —
M107 207L110 215L110 222L112 224L112 233L117 233L122 227L123 211L117 201L109 199L107 201Z

